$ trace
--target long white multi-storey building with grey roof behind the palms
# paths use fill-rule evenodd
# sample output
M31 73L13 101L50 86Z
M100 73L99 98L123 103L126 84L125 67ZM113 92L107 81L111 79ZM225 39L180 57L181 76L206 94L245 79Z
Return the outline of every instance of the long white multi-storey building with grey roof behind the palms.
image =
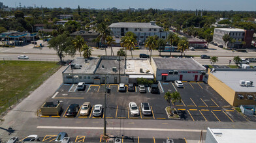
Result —
M142 42L145 42L148 36L157 35L159 38L166 39L168 35L168 32L161 32L162 28L155 25L155 21L150 21L150 23L119 22L112 23L109 27L114 36L125 36L126 32L133 32L137 37L136 40Z

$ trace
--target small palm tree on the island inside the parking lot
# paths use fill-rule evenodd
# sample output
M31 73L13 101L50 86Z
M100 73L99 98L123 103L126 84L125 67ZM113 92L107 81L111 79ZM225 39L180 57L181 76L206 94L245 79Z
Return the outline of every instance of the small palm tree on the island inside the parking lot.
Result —
M182 97L180 96L180 93L179 92L167 92L165 93L165 96L164 96L165 100L167 100L167 102L170 104L170 103L173 103L173 106L170 104L170 107L171 107L171 114L173 115L174 114L174 107L175 107L175 103L178 101L178 102L181 102L182 101Z

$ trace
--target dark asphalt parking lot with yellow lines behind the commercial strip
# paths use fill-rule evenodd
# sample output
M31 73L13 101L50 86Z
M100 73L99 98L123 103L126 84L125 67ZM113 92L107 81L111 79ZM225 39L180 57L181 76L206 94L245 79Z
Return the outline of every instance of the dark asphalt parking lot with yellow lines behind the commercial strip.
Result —
M225 101L214 89L202 82L183 82L184 88L177 88L174 83L159 82L159 94L150 93L150 88L146 88L146 93L142 94L135 87L135 92L118 92L118 85L106 85L110 88L110 94L106 94L106 118L116 119L142 119L142 120L168 120L165 107L169 106L163 98L166 92L180 92L182 102L176 103L176 109L180 115L180 120L204 121L204 122L246 122L249 120L234 110L227 101ZM86 85L85 90L76 90L76 84L61 85L52 98L48 101L57 102L59 100L63 105L63 112L59 116L41 116L56 118L104 118L94 117L92 114L93 105L104 105L105 85ZM129 111L129 102L134 101L139 107L140 115L132 116ZM72 103L80 107L84 102L91 103L91 110L88 116L65 116L65 112ZM140 103L150 103L152 114L144 116ZM104 109L103 109L104 110Z

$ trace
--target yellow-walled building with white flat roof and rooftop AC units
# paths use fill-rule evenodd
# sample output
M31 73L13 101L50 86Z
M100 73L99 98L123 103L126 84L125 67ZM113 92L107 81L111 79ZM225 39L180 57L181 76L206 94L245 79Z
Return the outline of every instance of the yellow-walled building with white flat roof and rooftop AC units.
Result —
M208 85L232 106L256 104L256 70L209 70L208 75Z

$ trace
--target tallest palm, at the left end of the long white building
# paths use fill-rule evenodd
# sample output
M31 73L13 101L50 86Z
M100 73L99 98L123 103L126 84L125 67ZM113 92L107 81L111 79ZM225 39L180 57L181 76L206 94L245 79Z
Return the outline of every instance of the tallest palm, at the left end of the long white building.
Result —
M97 38L100 39L101 45L105 46L106 45L106 37L110 36L111 30L104 22L102 22L97 25L96 31L100 33ZM106 47L104 47L104 48L105 48L105 53L106 53Z

